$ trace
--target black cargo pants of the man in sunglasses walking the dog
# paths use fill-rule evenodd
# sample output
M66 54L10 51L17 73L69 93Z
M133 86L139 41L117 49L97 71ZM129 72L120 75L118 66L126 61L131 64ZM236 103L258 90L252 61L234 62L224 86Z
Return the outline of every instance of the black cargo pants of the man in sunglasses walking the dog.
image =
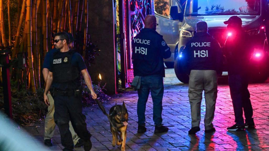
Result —
M69 121L71 121L75 132L81 139L84 141L90 139L91 134L87 130L86 117L82 114L82 100L80 97L56 94L54 96L54 105L54 120L59 127L63 147L70 150L74 148L69 130Z

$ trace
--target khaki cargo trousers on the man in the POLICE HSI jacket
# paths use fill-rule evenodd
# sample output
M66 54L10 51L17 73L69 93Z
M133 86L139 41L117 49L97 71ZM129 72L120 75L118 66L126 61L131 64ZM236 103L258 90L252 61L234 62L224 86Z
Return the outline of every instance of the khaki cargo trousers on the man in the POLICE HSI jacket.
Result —
M202 93L206 100L205 130L213 128L215 104L217 99L217 72L214 70L191 70L189 80L189 100L192 127L200 127Z

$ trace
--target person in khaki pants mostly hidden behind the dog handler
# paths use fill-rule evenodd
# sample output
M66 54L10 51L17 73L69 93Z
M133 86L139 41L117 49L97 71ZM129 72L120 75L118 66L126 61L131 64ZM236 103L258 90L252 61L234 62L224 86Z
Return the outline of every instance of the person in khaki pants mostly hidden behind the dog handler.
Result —
M68 33L69 38L70 38L70 43L69 47L72 47L74 38L72 34ZM44 80L46 81L49 70L51 69L51 59L53 57L53 54L57 52L57 49L51 49L47 55L45 56L44 63L43 63L43 77ZM46 114L45 118L45 134L44 134L44 144L46 146L52 146L51 139L54 135L54 130L55 130L55 122L54 122L54 99L52 98L50 92L48 93L48 99L49 99L49 106L48 106L48 113ZM75 144L75 147L80 147L83 146L83 140L77 136L76 132L73 129L73 126L71 122L69 122L69 130L72 134L73 142Z

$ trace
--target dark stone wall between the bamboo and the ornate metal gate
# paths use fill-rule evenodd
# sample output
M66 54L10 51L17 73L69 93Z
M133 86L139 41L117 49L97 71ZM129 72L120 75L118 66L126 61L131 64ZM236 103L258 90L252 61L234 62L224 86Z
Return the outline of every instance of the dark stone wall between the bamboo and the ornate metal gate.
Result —
M113 0L89 0L88 33L101 51L88 70L94 84L101 74L101 84L106 83L108 94L116 93L114 11Z

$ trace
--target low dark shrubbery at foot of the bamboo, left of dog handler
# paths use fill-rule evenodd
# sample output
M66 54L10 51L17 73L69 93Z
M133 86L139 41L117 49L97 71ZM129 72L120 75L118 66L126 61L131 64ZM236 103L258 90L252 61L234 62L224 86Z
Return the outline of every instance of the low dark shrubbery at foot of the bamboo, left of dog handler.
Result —
M23 85L16 87L16 82L11 81L11 102L13 119L21 125L33 125L47 113L47 106L44 103L44 90L39 88L33 94ZM3 87L0 87L0 109L3 110Z

